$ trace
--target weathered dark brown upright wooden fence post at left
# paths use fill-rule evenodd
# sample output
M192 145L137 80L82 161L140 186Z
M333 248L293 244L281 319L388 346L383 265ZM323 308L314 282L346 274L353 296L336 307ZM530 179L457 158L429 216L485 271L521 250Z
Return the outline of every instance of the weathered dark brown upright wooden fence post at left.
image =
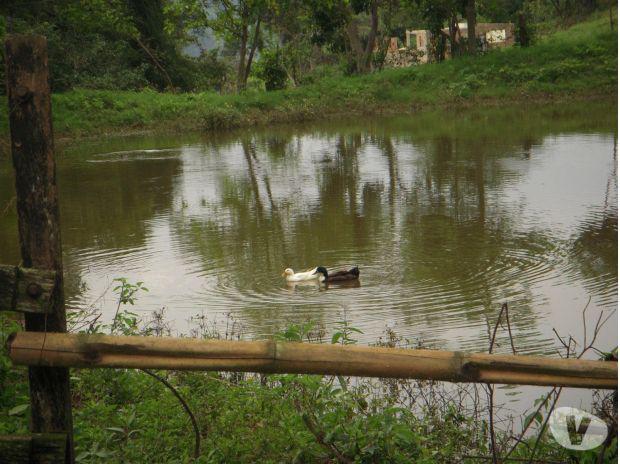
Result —
M47 40L43 36L10 35L5 50L22 264L56 271L57 279L50 311L25 314L26 330L66 332ZM30 367L28 378L31 431L65 433L65 462L72 463L69 370Z

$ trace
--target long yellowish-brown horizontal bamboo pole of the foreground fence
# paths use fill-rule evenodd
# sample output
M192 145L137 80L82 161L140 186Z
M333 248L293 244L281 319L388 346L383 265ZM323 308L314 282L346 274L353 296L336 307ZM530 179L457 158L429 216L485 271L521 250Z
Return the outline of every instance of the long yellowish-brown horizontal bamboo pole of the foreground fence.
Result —
M274 340L241 342L38 332L13 334L8 348L13 363L28 366L326 374L579 388L618 386L615 362L540 356Z

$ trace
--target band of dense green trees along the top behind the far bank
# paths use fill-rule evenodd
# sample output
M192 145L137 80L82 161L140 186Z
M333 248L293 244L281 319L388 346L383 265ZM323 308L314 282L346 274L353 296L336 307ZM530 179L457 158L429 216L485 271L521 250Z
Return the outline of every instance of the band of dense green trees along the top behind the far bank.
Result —
M402 44L407 29L431 30L431 55L442 61L448 48L482 51L457 33L465 19L468 28L511 21L525 47L607 8L602 0L5 0L0 39L47 36L55 92L230 92L297 86L324 64L345 74L380 70L390 37ZM286 79L267 77L278 73Z

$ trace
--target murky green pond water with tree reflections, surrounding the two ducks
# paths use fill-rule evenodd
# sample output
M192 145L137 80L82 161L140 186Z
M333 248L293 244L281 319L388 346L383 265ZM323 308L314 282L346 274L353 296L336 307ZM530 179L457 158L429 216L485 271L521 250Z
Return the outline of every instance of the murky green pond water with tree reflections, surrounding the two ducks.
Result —
M617 307L612 104L444 110L227 134L72 143L57 156L69 308L132 310L175 333L204 317L247 337L346 320L372 343L488 349L502 303L522 354ZM0 160L0 262L18 263ZM3 213L4 211L4 213ZM286 285L286 267L359 266L357 286ZM600 335L616 346L617 317ZM498 337L509 352L506 331Z

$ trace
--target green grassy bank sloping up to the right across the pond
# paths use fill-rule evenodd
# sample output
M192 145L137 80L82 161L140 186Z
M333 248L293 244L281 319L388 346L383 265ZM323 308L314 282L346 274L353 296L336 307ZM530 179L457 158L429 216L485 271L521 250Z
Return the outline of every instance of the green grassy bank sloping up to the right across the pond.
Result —
M57 134L142 129L227 129L316 120L330 114L408 112L428 106L501 104L617 94L617 35L606 16L541 39L438 64L344 77L335 68L303 86L240 95L75 90L53 96ZM8 133L7 112L0 133Z

